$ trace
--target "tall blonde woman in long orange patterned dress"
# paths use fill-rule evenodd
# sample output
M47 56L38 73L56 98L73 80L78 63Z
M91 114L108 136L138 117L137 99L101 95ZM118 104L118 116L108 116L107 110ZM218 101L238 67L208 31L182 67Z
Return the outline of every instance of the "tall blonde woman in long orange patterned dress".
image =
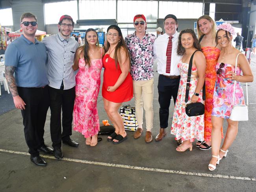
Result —
M209 15L202 15L197 19L198 39L202 52L206 58L205 70L205 103L204 103L204 140L198 140L196 146L200 150L211 148L211 111L213 107L213 91L216 81L215 66L217 64L221 46L215 42L216 24ZM223 131L221 131L223 137Z

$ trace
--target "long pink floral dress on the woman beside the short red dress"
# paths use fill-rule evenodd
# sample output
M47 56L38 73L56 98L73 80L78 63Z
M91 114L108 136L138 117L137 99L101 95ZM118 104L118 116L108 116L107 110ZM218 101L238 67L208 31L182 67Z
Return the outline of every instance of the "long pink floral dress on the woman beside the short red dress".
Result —
M76 74L76 98L73 112L73 129L85 138L98 134L100 129L97 99L100 91L100 72L102 59L91 59L91 66L85 66L79 59Z

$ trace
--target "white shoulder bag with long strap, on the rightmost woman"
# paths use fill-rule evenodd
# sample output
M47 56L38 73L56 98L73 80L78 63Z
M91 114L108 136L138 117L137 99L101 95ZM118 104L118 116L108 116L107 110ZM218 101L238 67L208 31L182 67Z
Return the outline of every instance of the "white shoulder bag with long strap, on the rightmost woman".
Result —
M242 53L240 53L242 54ZM238 55L236 56L236 67L237 67L237 58ZM236 68L235 68L235 74L236 74ZM247 88L247 83L246 83L246 100L247 100L247 105L234 105L235 102L235 91L236 91L236 81L234 82L234 93L233 93L233 103L232 103L232 111L230 114L229 119L232 121L248 121L248 88Z

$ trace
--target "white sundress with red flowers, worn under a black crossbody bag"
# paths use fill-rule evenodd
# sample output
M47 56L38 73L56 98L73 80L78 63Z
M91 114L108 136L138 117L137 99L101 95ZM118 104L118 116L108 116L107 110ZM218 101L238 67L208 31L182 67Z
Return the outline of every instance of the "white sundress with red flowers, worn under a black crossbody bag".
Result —
M189 64L183 63L182 60L178 63L178 68L180 70L180 85L174 107L171 134L175 135L175 140L181 139L182 141L189 140L190 142L193 142L197 139L202 141L204 140L204 115L189 117L185 112L185 106L190 103L191 97L197 87L197 77L191 74L189 101L185 103L188 67ZM192 67L192 72L196 71L197 68ZM204 103L202 100L202 90L199 94L198 102Z

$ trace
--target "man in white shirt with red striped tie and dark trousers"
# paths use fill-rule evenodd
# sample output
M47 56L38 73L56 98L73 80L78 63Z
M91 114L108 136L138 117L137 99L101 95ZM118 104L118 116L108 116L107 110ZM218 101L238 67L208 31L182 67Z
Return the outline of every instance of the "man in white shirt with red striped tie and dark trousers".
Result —
M180 83L180 71L178 62L181 56L177 55L178 46L178 22L175 15L169 14L164 18L165 33L154 42L153 52L158 59L158 101L160 104L160 131L156 136L156 141L161 141L165 137L168 127L169 106L173 97L176 102L178 87Z

